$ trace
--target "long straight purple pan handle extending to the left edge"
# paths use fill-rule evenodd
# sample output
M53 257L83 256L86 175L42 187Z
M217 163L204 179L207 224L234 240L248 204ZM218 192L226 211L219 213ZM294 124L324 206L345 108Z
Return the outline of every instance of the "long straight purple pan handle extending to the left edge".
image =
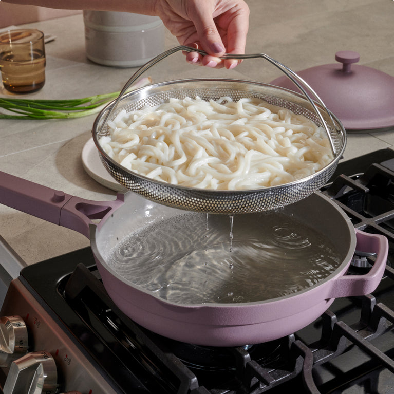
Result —
M91 201L0 172L0 203L89 238L92 220L102 219L120 207L124 194L113 201Z

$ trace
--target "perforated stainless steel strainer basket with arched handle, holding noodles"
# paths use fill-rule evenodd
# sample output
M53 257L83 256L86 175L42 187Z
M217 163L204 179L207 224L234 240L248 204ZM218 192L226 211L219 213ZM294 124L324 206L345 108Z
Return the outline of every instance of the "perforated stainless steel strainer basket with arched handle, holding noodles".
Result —
M127 189L149 200L183 210L215 214L253 213L284 207L309 196L327 183L344 152L346 145L345 130L339 120L331 114L320 99L317 99L317 102L310 99L304 86L315 97L318 96L305 81L299 78L289 68L268 57L266 54L226 55L224 58L266 59L281 69L298 86L304 95L259 82L216 78L167 81L126 93L129 86L148 68L168 55L180 50L197 51L205 54L205 52L185 46L179 46L163 52L141 67L123 87L119 97L109 103L96 118L92 129L93 140L99 149L100 157L106 170L112 177ZM217 191L184 187L149 179L120 166L100 146L99 139L109 135L107 120L113 120L120 110L133 111L145 105L158 105L168 101L170 98L183 99L196 96L204 100L217 100L222 96L229 96L234 101L245 97L259 98L269 104L288 108L295 114L304 115L318 126L324 127L330 139L334 158L322 170L291 183L253 190Z

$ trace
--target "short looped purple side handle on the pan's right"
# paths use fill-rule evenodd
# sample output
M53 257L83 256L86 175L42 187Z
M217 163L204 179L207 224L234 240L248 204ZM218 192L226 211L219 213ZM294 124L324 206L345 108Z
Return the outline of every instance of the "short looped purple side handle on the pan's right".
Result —
M366 295L374 291L384 274L387 263L388 241L383 235L364 233L355 230L356 249L361 252L376 253L376 260L367 274L344 275L333 281L328 298L351 297Z

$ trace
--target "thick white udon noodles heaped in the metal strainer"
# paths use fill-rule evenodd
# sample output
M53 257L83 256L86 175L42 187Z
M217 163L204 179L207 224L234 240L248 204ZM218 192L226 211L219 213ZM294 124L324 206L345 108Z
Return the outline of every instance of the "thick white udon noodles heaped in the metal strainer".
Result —
M134 173L171 184L246 190L289 183L332 159L325 130L289 109L229 97L122 110L99 142Z

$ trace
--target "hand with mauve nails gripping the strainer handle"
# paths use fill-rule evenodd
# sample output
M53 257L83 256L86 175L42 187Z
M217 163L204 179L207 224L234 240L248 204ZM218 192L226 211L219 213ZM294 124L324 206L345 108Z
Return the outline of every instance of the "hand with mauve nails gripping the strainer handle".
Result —
M189 63L233 68L239 60L219 57L245 53L249 8L243 0L159 0L155 11L181 45L208 53L187 53Z

